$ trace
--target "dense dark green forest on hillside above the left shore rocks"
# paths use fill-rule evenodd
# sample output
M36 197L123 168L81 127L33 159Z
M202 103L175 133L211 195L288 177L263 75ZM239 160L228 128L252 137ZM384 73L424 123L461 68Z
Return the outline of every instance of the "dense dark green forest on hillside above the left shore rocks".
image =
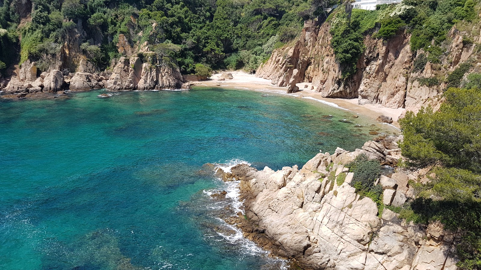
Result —
M42 62L85 31L80 43L97 47L101 68L121 55L116 44L124 35L130 46L177 46L164 49L183 73L194 73L196 63L255 69L298 35L308 8L307 0L3 0L0 61L30 59L45 69Z

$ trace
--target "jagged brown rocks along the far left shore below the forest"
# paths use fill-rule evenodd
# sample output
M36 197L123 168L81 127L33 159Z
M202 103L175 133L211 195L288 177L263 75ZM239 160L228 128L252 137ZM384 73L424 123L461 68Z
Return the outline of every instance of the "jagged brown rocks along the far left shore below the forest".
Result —
M25 15L28 20L28 15ZM132 27L135 20L132 19ZM152 25L152 32L156 25ZM3 82L4 93L19 98L38 93L56 93L63 90L83 91L107 88L108 90L150 90L180 88L182 75L175 63L165 61L161 55L151 51L149 41L142 44L121 34L116 44L118 55L111 65L101 71L95 63L95 51L83 48L88 42L100 46L103 37L99 31L94 38L87 38L82 21L64 34L65 42L58 45L52 54L27 59L16 65ZM153 33L152 33L153 35ZM95 40L94 40L95 39ZM155 39L152 39L155 43ZM91 47L91 45L90 45ZM98 46L95 46L97 47Z

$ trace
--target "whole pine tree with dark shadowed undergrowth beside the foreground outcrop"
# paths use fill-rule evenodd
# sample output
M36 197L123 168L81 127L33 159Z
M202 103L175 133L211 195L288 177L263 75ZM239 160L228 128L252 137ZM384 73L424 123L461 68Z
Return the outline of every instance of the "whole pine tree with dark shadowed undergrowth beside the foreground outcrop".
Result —
M449 88L440 110L407 112L400 120L400 145L407 165L433 166L427 184L415 184L414 221L442 221L461 233L457 255L461 269L481 268L481 89Z

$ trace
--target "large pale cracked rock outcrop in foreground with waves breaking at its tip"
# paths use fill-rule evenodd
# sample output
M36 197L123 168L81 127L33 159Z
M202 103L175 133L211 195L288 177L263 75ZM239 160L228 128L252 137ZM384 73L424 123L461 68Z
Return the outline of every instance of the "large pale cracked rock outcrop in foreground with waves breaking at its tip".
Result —
M354 152L338 148L333 154L319 153L302 169L257 171L237 165L225 177L241 180L245 217L230 223L306 270L454 270L456 233L437 222L406 223L389 209L379 217L376 203L360 198L350 185L353 173L345 164L361 153L392 163L399 158L395 141L386 147L369 141ZM338 184L323 176L329 172L347 176ZM400 206L412 196L410 177L403 172L381 176L385 204Z

